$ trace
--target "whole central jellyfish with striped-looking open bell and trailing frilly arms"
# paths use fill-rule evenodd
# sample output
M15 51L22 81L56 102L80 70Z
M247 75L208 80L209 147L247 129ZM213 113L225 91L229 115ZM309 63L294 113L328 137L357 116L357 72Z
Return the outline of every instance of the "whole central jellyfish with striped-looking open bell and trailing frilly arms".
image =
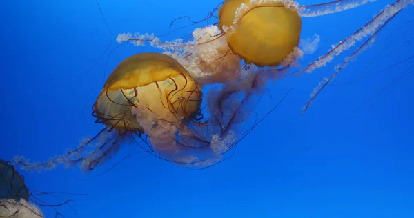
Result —
M212 166L247 134L244 123L260 95L261 80L250 77L242 85L217 86L203 99L199 83L177 60L160 53L135 54L112 71L92 106L95 122L106 126L101 132L41 164L19 156L14 161L26 170L81 163L90 171L132 144L183 166ZM240 88L247 83L250 90Z

